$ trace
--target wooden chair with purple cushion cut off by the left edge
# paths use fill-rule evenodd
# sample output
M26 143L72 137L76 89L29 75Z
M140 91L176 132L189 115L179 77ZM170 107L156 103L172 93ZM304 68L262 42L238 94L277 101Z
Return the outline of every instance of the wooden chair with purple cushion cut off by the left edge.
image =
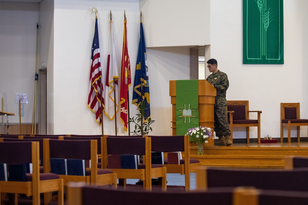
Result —
M44 193L44 204L47 205L51 198L45 197L48 196L45 193L58 191L58 204L63 205L63 179L56 174L39 173L39 142L0 142L0 162L7 165L32 163L33 170L32 174L26 174L25 181L0 181L1 192L14 194L13 200L17 199L16 194L32 196L35 205L41 203L40 194Z

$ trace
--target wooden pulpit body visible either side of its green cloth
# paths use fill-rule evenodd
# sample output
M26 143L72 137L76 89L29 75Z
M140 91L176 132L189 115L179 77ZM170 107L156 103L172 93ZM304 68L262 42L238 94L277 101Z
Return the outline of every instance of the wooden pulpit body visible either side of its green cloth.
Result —
M169 81L169 96L172 104L172 135L176 135L176 81ZM214 128L215 97L213 85L206 80L198 80L199 126ZM213 138L208 141L207 146L214 145Z

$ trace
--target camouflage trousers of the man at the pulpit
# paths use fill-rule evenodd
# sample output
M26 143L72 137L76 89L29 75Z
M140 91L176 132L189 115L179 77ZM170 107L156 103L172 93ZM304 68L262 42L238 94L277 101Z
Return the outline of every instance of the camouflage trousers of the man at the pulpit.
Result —
M230 136L230 127L227 121L227 106L215 106L214 107L214 131L217 137Z

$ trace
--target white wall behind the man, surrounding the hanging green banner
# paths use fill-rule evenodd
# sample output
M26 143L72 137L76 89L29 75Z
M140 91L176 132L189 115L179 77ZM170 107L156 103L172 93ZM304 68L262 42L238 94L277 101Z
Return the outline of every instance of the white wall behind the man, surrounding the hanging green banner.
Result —
M249 100L250 110L262 111L261 137L280 137L281 102L300 102L301 117L308 118L305 66L307 42L303 44L307 35L307 2L284 1L283 7L284 64L244 65L242 1L211 0L211 58L217 59L218 69L228 75L230 86L227 100ZM251 119L256 118L251 115ZM257 129L251 130L251 138L256 138ZM233 133L234 138L245 137L241 128L235 131L238 132ZM301 136L307 136L307 129L302 127L301 133Z

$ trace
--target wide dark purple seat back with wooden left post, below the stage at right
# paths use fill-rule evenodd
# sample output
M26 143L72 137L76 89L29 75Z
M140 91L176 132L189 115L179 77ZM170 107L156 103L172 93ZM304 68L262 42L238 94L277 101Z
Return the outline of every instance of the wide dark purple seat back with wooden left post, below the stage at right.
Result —
M197 171L197 189L253 186L257 189L308 191L308 168L244 169L202 168Z

